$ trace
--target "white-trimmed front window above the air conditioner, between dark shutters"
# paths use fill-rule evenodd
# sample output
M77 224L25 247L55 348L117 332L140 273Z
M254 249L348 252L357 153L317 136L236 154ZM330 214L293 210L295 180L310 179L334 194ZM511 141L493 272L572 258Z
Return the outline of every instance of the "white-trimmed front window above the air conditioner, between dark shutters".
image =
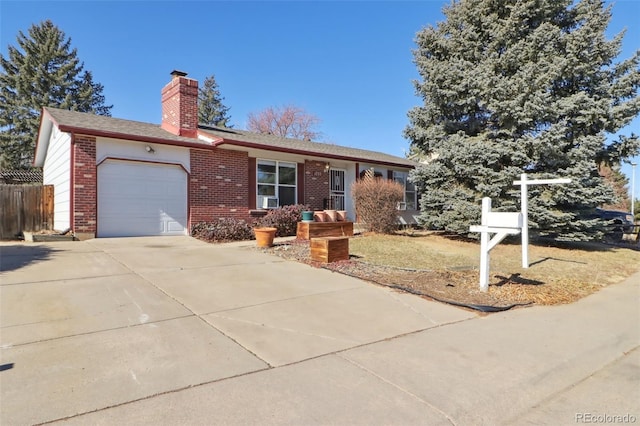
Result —
M258 207L264 205L265 197L276 198L278 206L296 204L298 165L272 160L258 160L256 163Z

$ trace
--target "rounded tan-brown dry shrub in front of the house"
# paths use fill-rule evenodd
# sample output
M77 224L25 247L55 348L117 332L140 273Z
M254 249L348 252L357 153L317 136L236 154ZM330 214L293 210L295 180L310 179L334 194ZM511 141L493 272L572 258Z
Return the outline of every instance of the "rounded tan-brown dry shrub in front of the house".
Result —
M398 226L398 202L404 198L404 188L398 182L377 179L367 171L364 178L351 185L358 221L369 230L392 233Z

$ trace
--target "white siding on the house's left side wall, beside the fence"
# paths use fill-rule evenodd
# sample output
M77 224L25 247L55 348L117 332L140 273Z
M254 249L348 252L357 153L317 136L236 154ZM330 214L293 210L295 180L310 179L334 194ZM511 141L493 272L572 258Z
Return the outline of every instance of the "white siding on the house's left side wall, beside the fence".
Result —
M53 228L70 227L71 135L54 126L49 139L46 161L42 168L43 183L53 185Z

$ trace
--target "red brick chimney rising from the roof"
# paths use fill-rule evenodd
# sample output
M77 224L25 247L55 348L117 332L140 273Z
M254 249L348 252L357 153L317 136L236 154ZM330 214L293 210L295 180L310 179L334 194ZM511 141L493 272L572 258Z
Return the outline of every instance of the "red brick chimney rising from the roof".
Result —
M178 136L198 136L198 81L174 70L162 88L162 127Z

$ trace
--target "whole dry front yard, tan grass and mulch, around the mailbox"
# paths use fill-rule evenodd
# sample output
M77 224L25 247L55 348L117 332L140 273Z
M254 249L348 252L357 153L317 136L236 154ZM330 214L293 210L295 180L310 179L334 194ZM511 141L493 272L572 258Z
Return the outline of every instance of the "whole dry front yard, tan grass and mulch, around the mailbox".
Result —
M312 263L308 242L281 243L267 250ZM445 302L494 308L571 303L640 270L637 245L599 243L530 244L530 267L525 269L516 239L491 251L489 291L481 292L480 247L475 241L428 232L369 234L351 238L349 253L349 261L315 266Z

